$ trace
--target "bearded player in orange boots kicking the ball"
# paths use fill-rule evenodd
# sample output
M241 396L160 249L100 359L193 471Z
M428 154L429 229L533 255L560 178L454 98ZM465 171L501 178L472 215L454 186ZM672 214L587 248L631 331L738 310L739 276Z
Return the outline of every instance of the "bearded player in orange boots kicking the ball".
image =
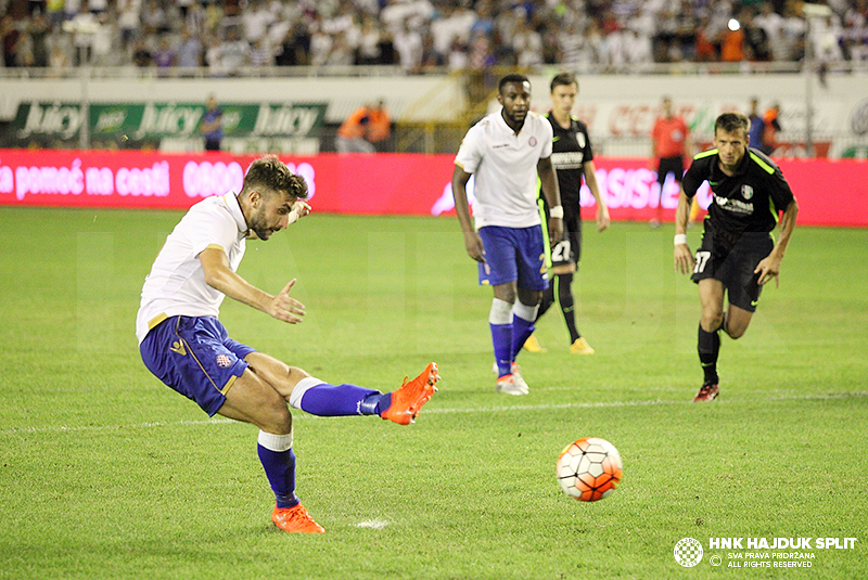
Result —
M259 427L258 454L277 498L271 519L289 532L322 533L295 495L289 407L319 416L380 415L407 425L437 390L431 363L394 392L330 385L229 338L217 320L226 296L296 324L304 305L291 281L272 296L235 272L246 240L268 240L310 211L307 184L276 157L254 162L239 194L199 202L169 234L144 281L136 334L142 360L166 385L220 414ZM289 407L288 407L289 403Z

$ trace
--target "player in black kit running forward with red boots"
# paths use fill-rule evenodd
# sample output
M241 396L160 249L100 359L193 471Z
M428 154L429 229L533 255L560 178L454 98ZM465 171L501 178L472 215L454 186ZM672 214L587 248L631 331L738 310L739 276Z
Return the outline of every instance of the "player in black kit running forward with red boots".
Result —
M795 228L799 206L780 168L749 149L748 117L724 113L714 124L715 149L698 154L685 173L675 214L675 270L699 284L702 318L698 350L705 378L693 401L717 397L719 332L740 338L756 311L763 285L778 283L781 260ZM687 245L690 202L703 181L712 191L702 245ZM779 212L782 215L779 218ZM777 243L771 237L780 219ZM724 295L729 307L724 312Z

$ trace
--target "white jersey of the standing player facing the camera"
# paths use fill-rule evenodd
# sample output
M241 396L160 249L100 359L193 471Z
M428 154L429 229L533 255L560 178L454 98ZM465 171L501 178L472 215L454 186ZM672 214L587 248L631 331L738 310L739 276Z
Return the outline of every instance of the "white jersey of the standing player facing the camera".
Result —
M529 228L540 223L537 199L539 159L551 156L551 124L528 112L519 134L501 112L474 125L461 141L455 164L473 173L473 218L484 225Z

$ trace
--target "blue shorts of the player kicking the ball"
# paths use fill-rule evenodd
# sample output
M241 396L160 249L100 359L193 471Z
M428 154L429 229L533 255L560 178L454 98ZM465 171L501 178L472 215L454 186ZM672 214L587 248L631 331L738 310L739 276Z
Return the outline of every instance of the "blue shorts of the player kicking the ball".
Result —
M199 403L208 416L222 407L244 357L255 349L229 338L214 317L170 317L151 328L139 346L148 370Z

